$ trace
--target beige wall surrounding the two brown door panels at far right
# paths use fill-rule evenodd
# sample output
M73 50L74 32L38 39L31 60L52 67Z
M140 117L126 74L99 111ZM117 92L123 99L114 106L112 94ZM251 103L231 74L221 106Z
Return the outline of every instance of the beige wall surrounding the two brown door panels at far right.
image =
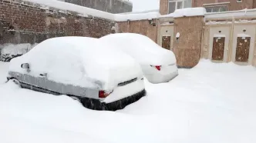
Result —
M246 32L243 32L244 29ZM234 21L234 24L231 22L230 24L206 25L204 28L204 37L202 38L201 58L211 59L213 37L214 34L217 34L220 30L221 33L225 35L224 61L222 62L234 62L237 65L256 66L256 23L244 24ZM245 34L251 37L248 62L235 62L238 34Z

